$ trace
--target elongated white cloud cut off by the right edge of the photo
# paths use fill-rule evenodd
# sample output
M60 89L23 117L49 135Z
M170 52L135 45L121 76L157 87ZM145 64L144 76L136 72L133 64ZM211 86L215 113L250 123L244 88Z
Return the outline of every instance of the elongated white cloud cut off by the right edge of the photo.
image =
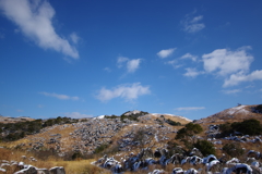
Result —
M253 71L250 74L245 74L243 72L231 74L229 78L225 79L223 87L236 86L243 82L253 80L262 80L262 70Z

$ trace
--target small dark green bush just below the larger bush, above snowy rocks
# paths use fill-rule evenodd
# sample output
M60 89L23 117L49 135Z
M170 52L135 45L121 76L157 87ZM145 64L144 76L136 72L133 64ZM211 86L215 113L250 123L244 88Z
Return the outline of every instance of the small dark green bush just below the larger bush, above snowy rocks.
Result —
M198 140L196 144L194 144L194 147L198 148L203 156L216 153L213 144L207 140Z

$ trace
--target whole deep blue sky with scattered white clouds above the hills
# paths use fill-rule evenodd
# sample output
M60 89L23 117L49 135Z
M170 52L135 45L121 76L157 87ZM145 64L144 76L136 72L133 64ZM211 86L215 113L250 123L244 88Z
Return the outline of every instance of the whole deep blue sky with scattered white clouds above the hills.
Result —
M0 0L0 114L198 120L261 104L261 0Z

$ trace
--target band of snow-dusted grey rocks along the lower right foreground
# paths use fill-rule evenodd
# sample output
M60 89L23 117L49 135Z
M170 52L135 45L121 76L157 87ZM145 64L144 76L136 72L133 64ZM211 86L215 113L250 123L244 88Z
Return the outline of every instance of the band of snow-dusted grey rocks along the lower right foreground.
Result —
M147 170L150 165L160 164L162 166L167 166L168 164L186 164L189 163L192 166L201 166L198 170L190 167L188 170L182 170L182 167L175 167L172 170L172 174L198 174L198 173L223 173L223 174L231 174L231 173L247 173L247 174L259 174L262 172L262 165L259 161L249 161L250 164L241 163L240 160L233 158L229 161L221 161L214 154L210 154L205 158L201 158L198 156L192 157L183 157L182 154L176 153L168 158L168 150L158 148L155 153L159 152L160 158L146 158L145 152L151 149L142 149L138 154L130 153L129 157L126 157L121 161L117 161L114 157L108 158L105 156L98 161L94 162L94 164L108 169L114 173L121 173L124 171L138 171L138 170ZM198 149L193 149L193 151L198 151ZM183 158L182 158L183 157ZM182 159L181 159L182 158ZM201 172L202 171L202 172ZM257 171L257 172L255 172ZM154 170L150 172L150 174L162 174L166 172L164 170Z

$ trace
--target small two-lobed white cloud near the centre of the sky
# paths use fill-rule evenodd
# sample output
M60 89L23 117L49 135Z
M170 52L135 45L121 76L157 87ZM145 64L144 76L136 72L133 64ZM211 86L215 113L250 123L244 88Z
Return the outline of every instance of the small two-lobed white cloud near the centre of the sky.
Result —
M117 66L120 69L126 65L128 73L134 73L139 69L141 60L142 59L130 60L126 57L118 57Z

